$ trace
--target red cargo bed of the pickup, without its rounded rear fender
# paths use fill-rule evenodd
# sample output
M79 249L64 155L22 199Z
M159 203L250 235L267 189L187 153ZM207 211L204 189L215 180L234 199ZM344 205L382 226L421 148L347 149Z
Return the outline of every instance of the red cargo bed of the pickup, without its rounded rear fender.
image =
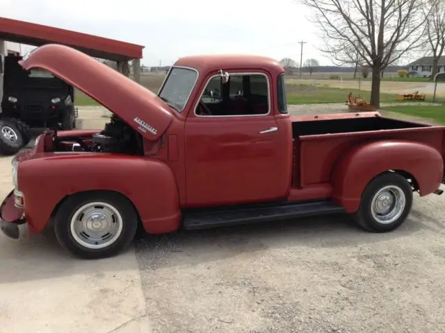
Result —
M340 155L375 139L427 144L445 157L445 126L380 117L378 112L291 117L294 189L311 188L314 198L330 196L330 177ZM318 195L318 194L319 195Z

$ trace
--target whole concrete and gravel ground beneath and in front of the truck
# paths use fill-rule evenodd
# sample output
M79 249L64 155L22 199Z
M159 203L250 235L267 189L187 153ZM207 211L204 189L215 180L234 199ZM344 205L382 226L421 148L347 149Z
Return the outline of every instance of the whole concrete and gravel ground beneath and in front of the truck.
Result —
M387 234L326 216L144 236L99 261L52 232L0 235L0 332L444 332L444 200L416 196Z

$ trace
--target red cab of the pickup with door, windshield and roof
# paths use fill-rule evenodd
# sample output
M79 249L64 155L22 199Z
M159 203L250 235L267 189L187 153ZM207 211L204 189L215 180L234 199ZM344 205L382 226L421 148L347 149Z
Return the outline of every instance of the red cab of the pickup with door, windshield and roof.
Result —
M184 117L181 196L188 207L289 195L292 132L283 83L276 62L260 57L184 58L170 70L159 96Z

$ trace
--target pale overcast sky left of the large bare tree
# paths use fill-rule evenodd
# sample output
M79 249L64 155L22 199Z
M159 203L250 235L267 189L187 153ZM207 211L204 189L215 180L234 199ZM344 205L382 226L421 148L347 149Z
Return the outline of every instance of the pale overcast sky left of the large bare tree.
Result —
M300 62L316 58L310 14L296 0L0 0L0 15L145 46L143 64L171 65L182 56L250 53Z

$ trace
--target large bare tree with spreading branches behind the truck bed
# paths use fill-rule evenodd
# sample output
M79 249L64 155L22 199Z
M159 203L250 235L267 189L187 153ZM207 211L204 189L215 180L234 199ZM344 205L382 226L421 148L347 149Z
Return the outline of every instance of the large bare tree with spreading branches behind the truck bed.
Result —
M428 0L297 0L314 10L330 54L345 45L372 68L371 104L380 108L380 73L421 46Z

